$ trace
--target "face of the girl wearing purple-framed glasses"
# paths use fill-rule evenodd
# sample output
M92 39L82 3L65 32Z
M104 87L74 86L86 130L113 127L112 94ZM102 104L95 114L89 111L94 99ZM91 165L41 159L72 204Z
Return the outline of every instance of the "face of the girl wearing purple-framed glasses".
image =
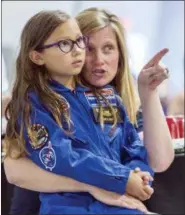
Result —
M47 45L60 42L60 47L46 47ZM50 37L45 41L43 51L40 53L43 65L48 69L53 79L65 85L72 80L74 75L80 73L85 61L85 48L80 48L70 40L77 41L83 47L82 33L75 19L69 19L57 27ZM73 48L69 48L73 44Z

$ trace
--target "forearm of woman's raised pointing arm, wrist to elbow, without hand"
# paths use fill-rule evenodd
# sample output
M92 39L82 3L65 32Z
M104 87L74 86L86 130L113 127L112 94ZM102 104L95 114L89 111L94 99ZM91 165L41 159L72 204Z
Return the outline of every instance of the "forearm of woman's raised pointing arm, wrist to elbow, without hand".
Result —
M174 159L170 132L157 91L141 92L140 99L144 120L144 144L149 162L154 171L162 172Z

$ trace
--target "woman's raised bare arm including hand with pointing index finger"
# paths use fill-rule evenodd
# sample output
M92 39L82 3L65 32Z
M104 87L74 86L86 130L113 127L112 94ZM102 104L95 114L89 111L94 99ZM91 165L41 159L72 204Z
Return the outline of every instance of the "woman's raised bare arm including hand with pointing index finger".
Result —
M170 132L156 89L168 77L166 69L159 65L159 61L167 52L167 49L158 52L145 65L138 77L144 120L144 144L150 165L155 172L165 171L174 159Z

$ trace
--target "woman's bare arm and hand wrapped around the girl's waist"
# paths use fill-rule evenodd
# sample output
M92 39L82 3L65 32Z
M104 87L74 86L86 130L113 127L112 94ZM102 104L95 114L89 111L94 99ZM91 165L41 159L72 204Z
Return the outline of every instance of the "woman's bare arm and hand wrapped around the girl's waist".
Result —
M38 192L89 192L95 199L107 205L127 207L146 212L142 202L129 195L120 195L101 188L78 182L41 169L28 158L4 160L6 177L9 183Z

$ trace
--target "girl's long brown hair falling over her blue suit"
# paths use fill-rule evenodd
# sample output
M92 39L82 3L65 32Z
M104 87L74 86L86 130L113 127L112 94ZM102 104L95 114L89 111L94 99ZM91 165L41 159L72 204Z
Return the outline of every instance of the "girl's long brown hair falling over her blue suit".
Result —
M24 126L27 128L31 140L37 141L30 123L31 106L28 99L30 89L38 94L61 128L61 117L66 119L68 127L70 127L70 116L64 110L64 100L48 86L50 76L47 69L45 66L34 64L29 58L30 51L42 46L52 32L69 18L68 14L59 10L41 11L26 23L22 31L20 51L16 60L16 80L12 99L5 113L8 120L5 138L6 156L20 157L25 154ZM18 116L20 117L19 132L17 131ZM15 150L18 152L16 155Z

